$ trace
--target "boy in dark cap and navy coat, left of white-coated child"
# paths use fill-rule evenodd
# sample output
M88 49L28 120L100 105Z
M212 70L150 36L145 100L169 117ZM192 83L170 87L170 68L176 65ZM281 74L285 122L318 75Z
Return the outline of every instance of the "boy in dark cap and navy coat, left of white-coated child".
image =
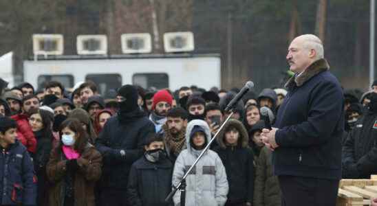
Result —
M144 149L143 157L133 163L129 172L129 203L136 206L170 205L164 200L171 192L173 164L164 151L162 136L149 138Z

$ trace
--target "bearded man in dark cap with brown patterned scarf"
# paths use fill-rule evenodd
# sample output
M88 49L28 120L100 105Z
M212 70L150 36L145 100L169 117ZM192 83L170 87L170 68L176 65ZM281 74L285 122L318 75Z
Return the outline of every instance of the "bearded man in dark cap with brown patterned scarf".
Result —
M172 108L166 115L164 130L165 150L169 159L174 163L180 152L186 148L187 112L181 107Z

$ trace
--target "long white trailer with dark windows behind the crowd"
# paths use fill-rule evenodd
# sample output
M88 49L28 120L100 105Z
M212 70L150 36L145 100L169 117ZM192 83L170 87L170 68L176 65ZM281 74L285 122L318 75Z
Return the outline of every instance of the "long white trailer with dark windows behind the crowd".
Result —
M191 85L211 89L221 87L221 60L218 54L56 56L25 60L23 76L25 82L38 88L51 80L62 82L66 88L92 80L100 93L122 84L172 90Z

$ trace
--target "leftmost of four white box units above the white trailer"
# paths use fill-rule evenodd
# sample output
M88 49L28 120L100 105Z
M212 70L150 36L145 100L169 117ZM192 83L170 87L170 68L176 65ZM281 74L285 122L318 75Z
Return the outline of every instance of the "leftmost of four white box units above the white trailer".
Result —
M33 34L34 55L62 55L63 51L62 34Z

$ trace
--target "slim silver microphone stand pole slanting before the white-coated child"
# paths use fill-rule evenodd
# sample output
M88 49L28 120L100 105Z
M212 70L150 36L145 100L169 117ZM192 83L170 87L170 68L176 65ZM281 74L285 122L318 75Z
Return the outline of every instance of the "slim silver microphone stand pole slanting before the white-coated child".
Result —
M222 128L224 128L226 122L228 122L229 119L230 119L230 117L232 117L232 115L234 113L233 112L233 108L230 109L230 112L231 112L230 115L222 123L222 126L220 126L219 130L217 130L217 133L215 134L215 136L212 137L211 141L208 142L207 146L200 153L199 157L197 157L197 159L195 160L195 162L193 163L193 165L191 165L191 167L189 168L189 170L186 171L186 173L182 177L182 180L180 181L180 183L178 183L177 186L173 185L173 190L171 190L170 194L165 198L165 202L166 203L169 203L169 201L171 200L171 198L173 198L173 195L175 194L175 192L177 192L177 190L180 190L181 191L181 198L180 198L181 203L180 203L180 205L184 206L186 204L186 177L190 174L191 170L193 170L193 168L195 167L195 165L197 164L197 162L200 160L200 158L202 158L202 156L204 155L204 153L210 148L212 142L215 141L217 135L219 135L219 133L222 130Z

